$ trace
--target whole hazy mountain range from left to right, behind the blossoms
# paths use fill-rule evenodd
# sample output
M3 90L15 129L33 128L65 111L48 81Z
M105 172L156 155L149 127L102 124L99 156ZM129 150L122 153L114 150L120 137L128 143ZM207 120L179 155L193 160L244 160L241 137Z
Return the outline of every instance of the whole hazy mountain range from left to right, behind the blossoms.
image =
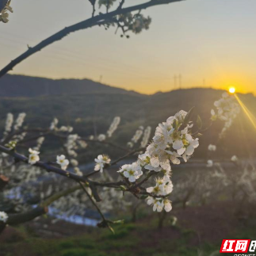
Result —
M30 128L47 128L52 119L57 117L59 125L71 125L75 128L74 132L81 136L94 134L94 128L97 134L105 133L113 117L119 116L120 127L109 139L125 147L139 125L151 125L154 131L160 122L181 109L189 111L195 106L204 120L204 126L207 126L213 103L222 94L222 90L193 88L143 95L90 80L51 80L6 75L0 79L0 133L3 132L7 113L13 113L15 117L18 113L27 113L25 125ZM254 95L239 94L239 97L251 113L256 113ZM217 121L208 132L204 132L196 156L207 157L208 144L217 143L223 125L224 122ZM55 140L50 139L48 142L55 143ZM249 155L248 148L250 152L256 152L256 132L243 111L228 130L224 143L217 147L220 157L246 157ZM102 149L98 153L102 153ZM118 155L122 152L108 151L108 154L112 153ZM88 149L85 157L94 159L94 156L95 151Z

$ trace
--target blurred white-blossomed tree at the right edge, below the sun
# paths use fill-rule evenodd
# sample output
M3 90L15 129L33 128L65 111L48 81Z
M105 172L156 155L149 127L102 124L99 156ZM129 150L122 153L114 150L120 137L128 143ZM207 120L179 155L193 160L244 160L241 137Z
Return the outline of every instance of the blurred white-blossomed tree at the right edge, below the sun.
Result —
M239 113L239 105L236 102L231 101L231 99L227 97L227 94L224 94L222 99L215 102L215 106L218 114L212 110L212 119L215 120L216 118L220 118L221 120L224 120L225 123L224 128L220 132L219 139L215 144L210 144L208 146L209 160L207 166L212 170L209 178L211 178L211 180L216 179L218 181L218 189L229 191L233 200L239 199L241 204L246 201L253 202L256 197L256 176L253 160L251 158L242 160L236 155L233 155L230 159L233 167L232 170L229 171L220 161L214 159L216 151L220 147L220 141L224 139L225 133L231 127L231 124ZM241 128L243 128L243 125ZM241 134L244 136L245 132L242 130ZM250 151L248 151L247 154L250 156ZM212 191L208 189L208 195L211 192ZM241 204L239 205L239 208L241 207Z

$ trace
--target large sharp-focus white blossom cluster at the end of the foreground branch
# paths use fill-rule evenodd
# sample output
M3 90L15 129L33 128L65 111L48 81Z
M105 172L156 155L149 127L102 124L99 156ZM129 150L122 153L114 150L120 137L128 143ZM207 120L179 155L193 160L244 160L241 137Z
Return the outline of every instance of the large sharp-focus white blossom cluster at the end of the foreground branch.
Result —
M173 190L170 163L180 164L181 158L187 162L199 146L198 139L191 135L193 124L184 124L187 114L181 110L174 117L159 124L145 153L139 155L136 162L121 166L118 171L130 182L136 182L143 175L143 169L148 174L163 175L155 179L155 186L147 188L147 204L153 204L154 211L171 210L170 201L167 199Z

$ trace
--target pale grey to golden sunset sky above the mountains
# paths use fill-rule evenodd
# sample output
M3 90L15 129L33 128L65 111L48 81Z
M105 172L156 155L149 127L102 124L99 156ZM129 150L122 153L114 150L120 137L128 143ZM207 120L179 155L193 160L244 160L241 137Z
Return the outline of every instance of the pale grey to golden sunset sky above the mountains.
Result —
M119 1L118 1L119 2ZM126 0L125 6L146 2ZM0 24L0 68L65 26L90 17L87 0L12 0ZM129 39L94 27L70 34L10 74L90 78L143 94L178 88L235 86L256 94L256 1L186 0L143 10L150 29ZM101 10L104 12L104 10ZM0 81L1 83L1 81Z

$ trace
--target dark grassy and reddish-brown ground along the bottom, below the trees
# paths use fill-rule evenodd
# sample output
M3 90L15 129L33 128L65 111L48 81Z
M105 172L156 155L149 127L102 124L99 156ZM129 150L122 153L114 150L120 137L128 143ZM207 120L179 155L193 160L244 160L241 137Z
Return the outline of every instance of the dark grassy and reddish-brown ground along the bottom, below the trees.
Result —
M178 217L172 226L171 216ZM47 221L47 220L45 220ZM12 256L210 256L219 255L222 239L253 239L254 218L233 202L176 208L158 228L158 215L141 216L136 224L109 230L59 223L60 237L42 235L32 224L6 229L0 237L0 255ZM81 227L81 228L80 228ZM48 226L51 230L54 227ZM67 229L70 231L68 232ZM82 230L81 230L82 229ZM53 234L53 233L52 233Z

